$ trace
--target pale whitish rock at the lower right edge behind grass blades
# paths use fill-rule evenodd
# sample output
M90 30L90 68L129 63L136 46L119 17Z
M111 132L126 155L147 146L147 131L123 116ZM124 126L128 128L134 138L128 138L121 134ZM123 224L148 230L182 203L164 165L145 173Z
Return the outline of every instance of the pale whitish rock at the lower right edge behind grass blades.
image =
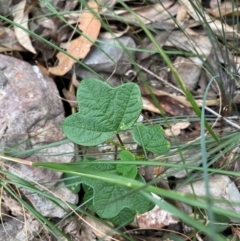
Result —
M193 194L192 187L194 189L194 195L205 196L205 183L204 180L200 180L194 183L187 184L177 188L177 191L183 193ZM240 213L240 207L237 203L240 202L240 193L231 179L228 176L213 175L209 177L209 189L213 199L222 200L222 202L216 201L213 203L216 207L221 207L226 210L230 210L236 213ZM231 203L231 204L230 204ZM235 204L234 204L235 203ZM232 220L239 222L239 220Z

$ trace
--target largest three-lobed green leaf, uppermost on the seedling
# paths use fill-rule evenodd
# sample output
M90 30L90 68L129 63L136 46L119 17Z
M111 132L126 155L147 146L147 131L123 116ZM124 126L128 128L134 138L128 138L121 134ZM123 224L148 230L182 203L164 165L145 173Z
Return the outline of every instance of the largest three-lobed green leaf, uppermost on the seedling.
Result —
M73 142L98 145L114 134L129 129L142 110L140 89L127 83L113 88L96 79L84 79L77 90L80 111L67 117L63 131Z

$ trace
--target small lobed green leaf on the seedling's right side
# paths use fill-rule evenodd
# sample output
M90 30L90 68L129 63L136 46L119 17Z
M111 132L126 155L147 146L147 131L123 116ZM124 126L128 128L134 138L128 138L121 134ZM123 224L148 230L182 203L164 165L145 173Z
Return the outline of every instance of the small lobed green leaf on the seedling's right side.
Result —
M162 155L170 148L170 143L164 138L164 130L158 125L135 125L133 138L139 145L156 154Z

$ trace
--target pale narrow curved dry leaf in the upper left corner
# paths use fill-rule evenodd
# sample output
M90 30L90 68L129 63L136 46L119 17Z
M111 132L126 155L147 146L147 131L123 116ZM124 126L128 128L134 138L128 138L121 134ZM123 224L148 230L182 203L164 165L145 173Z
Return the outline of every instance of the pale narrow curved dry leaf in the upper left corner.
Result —
M13 22L21 25L23 28L28 30L28 15L24 13L24 8L26 5L26 0L21 1L12 8ZM14 31L19 43L30 52L36 54L36 50L32 46L31 39L27 31L17 27L14 24Z

